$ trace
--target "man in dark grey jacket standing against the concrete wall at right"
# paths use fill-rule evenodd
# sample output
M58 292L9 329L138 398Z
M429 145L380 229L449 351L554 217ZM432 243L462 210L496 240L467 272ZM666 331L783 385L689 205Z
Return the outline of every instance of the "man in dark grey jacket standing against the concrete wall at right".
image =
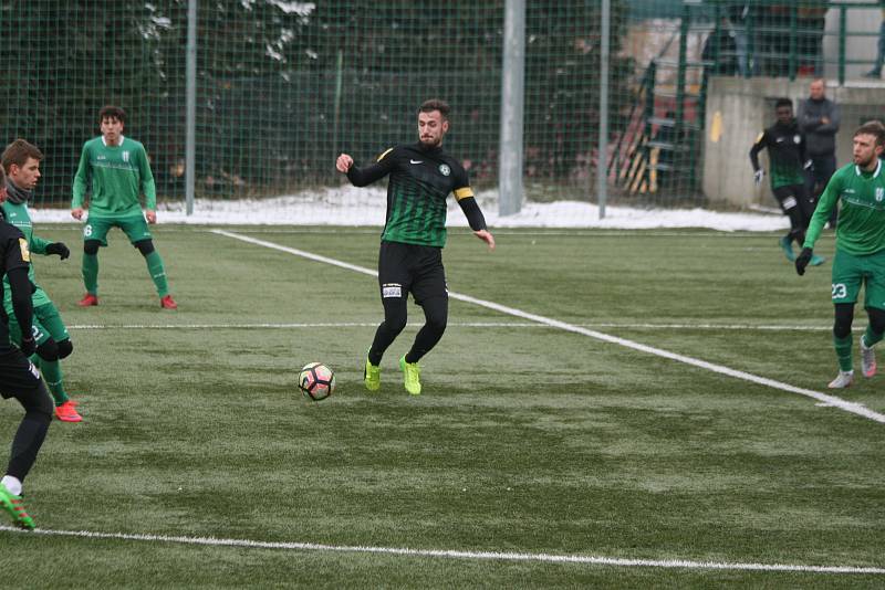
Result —
M799 102L796 120L799 129L805 135L805 151L811 159L811 173L806 188L812 203L818 202L830 177L836 171L836 133L839 131L839 107L825 96L826 86L822 78L809 85L809 97ZM836 208L830 215L830 226L836 225Z

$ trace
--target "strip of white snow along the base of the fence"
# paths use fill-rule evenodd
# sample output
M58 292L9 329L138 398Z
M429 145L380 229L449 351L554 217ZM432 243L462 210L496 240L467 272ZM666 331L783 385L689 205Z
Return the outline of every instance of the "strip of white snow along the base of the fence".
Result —
M558 201L524 203L513 215L498 214L497 192L478 196L489 228L603 228L655 229L706 228L721 231L777 231L789 228L787 218L766 213L719 213L704 209L635 209L606 207L600 219L598 207L585 202ZM384 188L340 187L260 200L197 199L194 214L185 203L164 203L159 223L257 224L257 225L377 225L384 224ZM67 209L31 209L35 223L72 222ZM454 199L449 199L449 226L467 226Z

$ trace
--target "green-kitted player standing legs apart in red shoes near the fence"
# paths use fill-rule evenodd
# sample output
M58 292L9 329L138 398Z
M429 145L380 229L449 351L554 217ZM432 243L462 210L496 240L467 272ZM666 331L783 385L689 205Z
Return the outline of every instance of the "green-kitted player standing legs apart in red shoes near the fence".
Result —
M98 247L107 245L107 232L116 226L126 233L129 242L145 257L160 298L160 307L176 309L178 305L169 295L163 259L154 249L147 229L147 223L157 222L154 175L144 146L123 137L125 118L126 113L116 106L105 106L98 112L102 135L83 145L74 177L71 202L71 215L74 219L83 219L83 204L88 181L92 180L88 219L83 226L82 270L86 295L79 305L98 305ZM144 213L139 199L142 192L145 196Z

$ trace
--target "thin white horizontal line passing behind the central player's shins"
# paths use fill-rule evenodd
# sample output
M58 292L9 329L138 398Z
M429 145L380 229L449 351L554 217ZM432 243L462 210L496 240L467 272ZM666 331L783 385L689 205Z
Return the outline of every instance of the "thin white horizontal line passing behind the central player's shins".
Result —
M111 329L290 329L290 328L366 328L376 327L378 319L374 322L290 322L290 323L258 323L258 324L75 324L66 326L67 329L75 330L111 330ZM419 327L418 322L409 323L410 327ZM551 326L538 324L535 322L449 322L449 328L541 328L550 329ZM625 324L625 323L598 323L598 324L574 324L583 328L625 328L625 329L709 329L709 330L741 330L741 331L830 331L830 326L777 326L777 325L753 325L753 324ZM863 327L854 327L854 331L863 331Z

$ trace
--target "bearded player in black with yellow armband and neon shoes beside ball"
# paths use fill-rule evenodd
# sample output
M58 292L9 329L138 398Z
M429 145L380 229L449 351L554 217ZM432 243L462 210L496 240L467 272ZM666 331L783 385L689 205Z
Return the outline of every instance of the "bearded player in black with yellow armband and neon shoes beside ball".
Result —
M356 187L365 187L389 175L387 215L378 254L378 286L384 305L384 322L365 361L365 386L381 387L381 359L406 326L408 294L424 309L426 323L412 349L399 359L406 390L421 392L418 360L442 337L448 320L448 291L442 267L446 245L446 198L449 193L461 207L473 234L494 249L494 238L486 228L470 189L467 171L442 150L449 129L449 106L427 101L418 109L418 141L393 147L364 168L354 166L347 154L335 167Z

